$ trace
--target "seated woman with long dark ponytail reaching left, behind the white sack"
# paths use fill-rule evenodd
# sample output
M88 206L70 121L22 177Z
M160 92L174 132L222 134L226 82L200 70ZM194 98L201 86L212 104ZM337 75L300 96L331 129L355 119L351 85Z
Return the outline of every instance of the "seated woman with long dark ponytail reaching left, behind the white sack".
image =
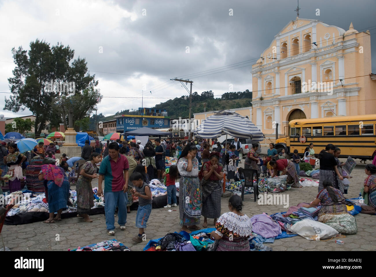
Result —
M312 208L321 203L322 207L318 218L323 214L340 214L347 212L346 200L342 192L332 187L332 183L327 180L323 181L323 187L324 188L317 194L316 199L309 205L303 205L303 207Z

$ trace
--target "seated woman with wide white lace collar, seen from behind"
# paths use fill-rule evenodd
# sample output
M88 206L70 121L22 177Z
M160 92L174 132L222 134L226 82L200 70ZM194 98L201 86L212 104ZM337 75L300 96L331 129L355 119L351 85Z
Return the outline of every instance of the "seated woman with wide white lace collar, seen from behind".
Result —
M252 235L252 223L246 214L241 212L241 197L233 195L229 199L229 210L218 219L210 238L215 239L216 251L249 251L248 237Z

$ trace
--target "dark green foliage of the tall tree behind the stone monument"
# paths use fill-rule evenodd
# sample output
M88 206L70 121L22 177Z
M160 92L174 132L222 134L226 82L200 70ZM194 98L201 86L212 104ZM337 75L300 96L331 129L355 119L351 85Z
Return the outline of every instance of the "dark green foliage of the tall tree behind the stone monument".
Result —
M47 42L36 39L35 42L30 42L29 51L23 50L20 46L18 50L13 48L12 53L16 67L12 71L14 76L8 81L13 95L5 99L4 110L17 113L29 108L36 116L35 134L41 133L47 121L51 121L53 126L58 126L62 120L65 123L68 115L65 111L65 99L70 92L56 89L49 91L45 82L74 82L77 97L85 96L85 90L88 90L88 93L97 93L93 89L98 84L98 81L94 81L95 75L87 73L85 59L78 57L71 62L74 50L69 46L64 47L58 43L50 47ZM90 103L74 109L75 119L83 118L88 109L92 109L92 101Z

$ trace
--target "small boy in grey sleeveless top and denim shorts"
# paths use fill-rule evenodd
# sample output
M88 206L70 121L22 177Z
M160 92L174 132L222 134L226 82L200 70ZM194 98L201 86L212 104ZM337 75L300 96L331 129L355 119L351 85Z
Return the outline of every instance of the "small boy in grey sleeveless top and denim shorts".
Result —
M139 172L134 172L130 176L133 188L132 194L138 197L138 210L136 215L136 227L138 227L138 236L133 238L135 243L146 241L144 229L146 228L147 220L152 212L152 193L150 187L143 180L143 176Z

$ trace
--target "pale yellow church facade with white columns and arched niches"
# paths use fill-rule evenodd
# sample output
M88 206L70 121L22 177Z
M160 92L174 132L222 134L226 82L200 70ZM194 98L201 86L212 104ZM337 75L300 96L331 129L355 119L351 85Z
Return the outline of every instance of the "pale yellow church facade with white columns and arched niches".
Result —
M252 65L252 122L267 136L293 119L376 113L370 32L296 18ZM273 128L274 127L274 128Z

